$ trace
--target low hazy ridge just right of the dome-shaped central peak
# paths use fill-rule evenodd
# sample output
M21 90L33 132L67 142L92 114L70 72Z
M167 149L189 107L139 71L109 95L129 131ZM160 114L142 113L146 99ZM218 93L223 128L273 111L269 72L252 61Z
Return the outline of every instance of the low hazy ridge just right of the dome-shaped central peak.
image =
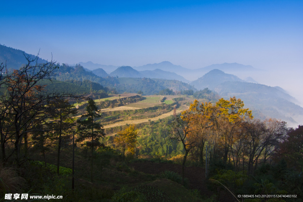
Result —
M185 83L188 83L189 81L185 79L184 77L177 75L176 73L169 72L169 71L163 71L161 69L155 69L153 71L151 70L145 70L145 71L139 71L143 77L146 78L162 78L162 79L168 79L168 80L178 80Z

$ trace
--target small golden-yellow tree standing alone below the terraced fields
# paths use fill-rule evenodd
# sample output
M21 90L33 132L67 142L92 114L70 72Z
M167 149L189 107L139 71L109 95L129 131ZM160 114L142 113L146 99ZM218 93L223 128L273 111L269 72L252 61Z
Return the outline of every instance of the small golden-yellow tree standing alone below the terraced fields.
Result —
M125 159L125 150L127 149L131 154L135 154L135 148L137 144L138 132L134 125L130 125L123 131L117 133L114 137L114 143L118 147L122 147L123 161Z

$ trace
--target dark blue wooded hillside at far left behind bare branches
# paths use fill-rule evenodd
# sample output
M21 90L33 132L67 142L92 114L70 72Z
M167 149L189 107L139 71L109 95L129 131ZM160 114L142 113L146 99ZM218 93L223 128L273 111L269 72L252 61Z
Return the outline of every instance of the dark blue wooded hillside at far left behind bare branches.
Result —
M25 53L22 50L7 47L0 44L0 63L6 63L6 67L12 69L19 69L22 64L27 64L25 57L35 59L36 56L32 54ZM38 58L38 63L46 63L46 60Z

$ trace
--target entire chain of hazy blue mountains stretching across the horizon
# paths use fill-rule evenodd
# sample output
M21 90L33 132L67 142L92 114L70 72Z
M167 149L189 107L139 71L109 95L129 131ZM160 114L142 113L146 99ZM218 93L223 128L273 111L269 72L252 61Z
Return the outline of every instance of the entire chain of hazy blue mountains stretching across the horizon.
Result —
M0 45L0 62L6 62L7 68L18 69L26 63L24 56L35 57L21 50ZM46 61L39 58L39 62ZM235 71L262 71L250 65L223 63L191 70L168 61L133 68L130 66L99 65L92 62L79 64L84 68L80 65L75 65L75 67L61 65L57 79L61 81L88 79L102 84L104 87L116 88L119 91L118 93L137 92L136 90L140 89L146 93L155 94L164 88L173 89L174 91L186 89L195 91L196 89L208 88L216 91L225 99L233 96L241 98L245 107L253 109L253 115L257 118L280 118L293 126L303 120L303 108L294 104L294 102L297 102L296 99L281 87L258 84L251 77L242 80L230 74L230 72ZM191 81L190 85L185 84L189 83L189 80ZM153 88L153 91L150 91L149 88Z

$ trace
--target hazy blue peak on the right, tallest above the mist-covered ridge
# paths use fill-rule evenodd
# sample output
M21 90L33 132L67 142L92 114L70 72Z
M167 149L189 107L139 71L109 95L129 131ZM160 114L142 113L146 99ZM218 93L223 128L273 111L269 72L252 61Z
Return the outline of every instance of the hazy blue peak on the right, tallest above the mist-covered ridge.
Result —
M204 88L209 88L214 90L216 86L225 82L225 81L243 81L235 75L225 74L223 71L214 69L209 71L204 76L198 78L197 80L191 82L190 84L195 86L198 90ZM244 82L244 81L243 81Z

